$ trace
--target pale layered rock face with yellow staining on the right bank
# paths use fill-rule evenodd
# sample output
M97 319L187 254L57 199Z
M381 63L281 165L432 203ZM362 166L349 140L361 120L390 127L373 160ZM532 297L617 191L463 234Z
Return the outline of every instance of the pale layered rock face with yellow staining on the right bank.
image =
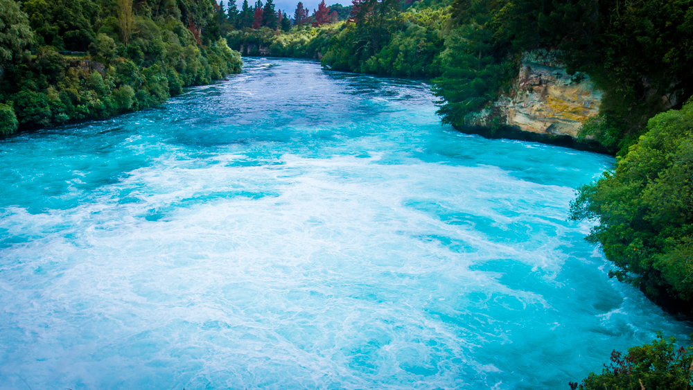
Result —
M510 94L468 116L465 123L473 127L495 123L547 138L577 139L582 123L599 113L601 102L602 91L586 74L568 75L554 53L538 50L523 55Z

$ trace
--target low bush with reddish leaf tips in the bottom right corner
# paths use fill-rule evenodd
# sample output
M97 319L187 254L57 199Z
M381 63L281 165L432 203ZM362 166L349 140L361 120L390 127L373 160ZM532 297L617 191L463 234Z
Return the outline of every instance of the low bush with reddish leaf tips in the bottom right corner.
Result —
M676 339L657 335L651 344L634 346L625 355L613 351L611 364L590 375L580 390L687 390L693 387L693 347L676 348ZM571 382L575 390L578 384Z

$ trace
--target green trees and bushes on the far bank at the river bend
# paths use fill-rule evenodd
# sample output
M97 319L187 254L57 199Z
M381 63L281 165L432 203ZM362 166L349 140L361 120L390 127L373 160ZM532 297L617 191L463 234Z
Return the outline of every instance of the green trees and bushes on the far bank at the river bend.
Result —
M233 30L228 35L229 46L243 55L318 58L324 66L342 71L419 77L440 74L446 10L398 12L396 3L373 2L374 11L365 12L367 6L360 8L359 23L319 26L316 20L313 27L295 25L283 33L269 28ZM325 9L318 15L323 21ZM307 15L302 3L296 12Z

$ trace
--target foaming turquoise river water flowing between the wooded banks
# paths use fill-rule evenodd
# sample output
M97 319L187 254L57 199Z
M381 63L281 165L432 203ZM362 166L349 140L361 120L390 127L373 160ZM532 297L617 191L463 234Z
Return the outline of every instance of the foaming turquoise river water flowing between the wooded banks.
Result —
M567 389L677 321L568 222L613 159L247 59L0 141L1 389Z

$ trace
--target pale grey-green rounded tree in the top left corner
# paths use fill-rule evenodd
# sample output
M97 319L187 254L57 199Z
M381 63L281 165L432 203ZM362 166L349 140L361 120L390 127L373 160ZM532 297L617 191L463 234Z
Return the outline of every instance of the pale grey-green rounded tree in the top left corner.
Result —
M32 37L29 19L17 1L0 0L0 67L17 57Z

